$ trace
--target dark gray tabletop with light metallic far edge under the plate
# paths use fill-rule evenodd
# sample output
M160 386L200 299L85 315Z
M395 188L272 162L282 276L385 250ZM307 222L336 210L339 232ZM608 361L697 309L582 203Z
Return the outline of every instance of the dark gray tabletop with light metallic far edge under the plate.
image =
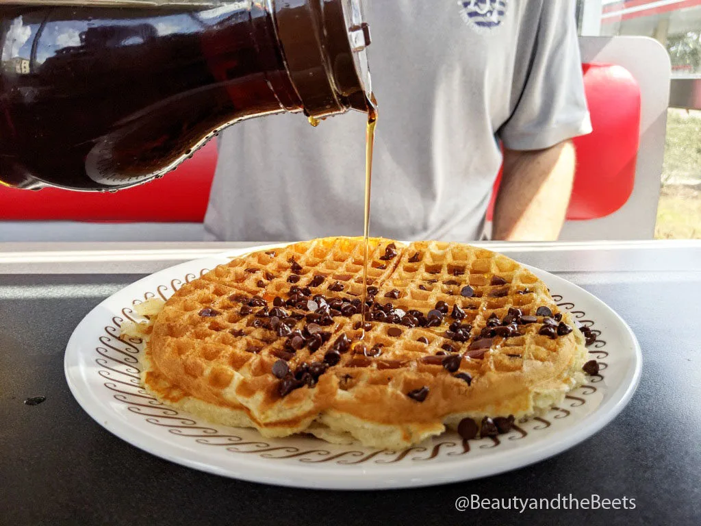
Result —
M231 245L0 244L0 523L8 525L697 525L701 523L701 243L491 245L609 304L643 350L632 401L557 457L500 476L378 492L273 487L200 473L112 436L63 376L72 330L145 274ZM46 396L40 405L25 405ZM490 499L635 499L635 509L468 510Z

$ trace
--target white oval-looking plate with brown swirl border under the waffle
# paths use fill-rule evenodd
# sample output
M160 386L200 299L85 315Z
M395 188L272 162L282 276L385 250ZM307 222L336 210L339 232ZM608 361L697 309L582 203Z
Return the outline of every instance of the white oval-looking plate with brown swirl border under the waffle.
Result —
M232 250L148 276L105 299L81 321L68 342L64 367L73 395L95 421L158 457L223 476L296 487L396 488L479 478L551 457L611 422L637 387L640 347L620 316L576 285L531 269L561 309L598 332L589 349L601 374L573 391L561 407L543 418L519 422L498 438L463 444L456 433L446 433L393 452L315 438L265 439L251 429L210 424L162 405L142 389L142 346L137 340L118 339L119 324L134 316L133 304L168 298L182 283L250 250Z

